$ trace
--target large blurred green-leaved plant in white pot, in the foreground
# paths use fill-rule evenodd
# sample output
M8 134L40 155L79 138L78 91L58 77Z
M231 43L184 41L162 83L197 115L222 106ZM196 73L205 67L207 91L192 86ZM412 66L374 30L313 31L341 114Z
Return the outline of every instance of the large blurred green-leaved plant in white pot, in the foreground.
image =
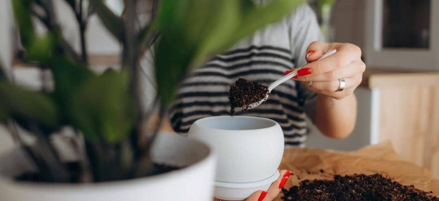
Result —
M51 0L11 1L22 59L51 78L43 80L41 91L32 91L0 70L0 121L36 139L26 143L11 130L20 147L0 157L0 199L210 198L211 151L184 137L158 135L160 120L191 69L303 2L257 7L250 0L149 0L150 16L139 19L136 7L145 1L125 0L119 16L105 1L64 0L77 20L80 52L63 38ZM90 70L84 33L91 15L119 41L121 70ZM35 31L35 21L44 25L43 34ZM139 60L146 51L154 55L157 92L145 108ZM147 132L156 108L158 125ZM57 143L66 127L74 134Z

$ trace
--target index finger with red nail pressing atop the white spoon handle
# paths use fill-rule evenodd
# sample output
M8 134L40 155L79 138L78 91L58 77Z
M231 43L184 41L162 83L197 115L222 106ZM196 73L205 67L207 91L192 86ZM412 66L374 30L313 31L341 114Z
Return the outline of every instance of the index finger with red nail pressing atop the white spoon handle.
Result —
M340 69L353 61L360 60L361 50L359 47L347 43L332 46L334 49L337 49L337 53L324 59L308 63L304 65L301 70L311 71L310 75L317 75Z

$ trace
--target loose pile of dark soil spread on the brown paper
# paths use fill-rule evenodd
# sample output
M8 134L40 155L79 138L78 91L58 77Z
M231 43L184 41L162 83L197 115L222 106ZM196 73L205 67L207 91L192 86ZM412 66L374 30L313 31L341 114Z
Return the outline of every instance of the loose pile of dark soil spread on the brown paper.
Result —
M435 200L439 197L405 186L380 174L353 176L335 175L334 180L304 180L300 186L282 189L285 201L290 200Z

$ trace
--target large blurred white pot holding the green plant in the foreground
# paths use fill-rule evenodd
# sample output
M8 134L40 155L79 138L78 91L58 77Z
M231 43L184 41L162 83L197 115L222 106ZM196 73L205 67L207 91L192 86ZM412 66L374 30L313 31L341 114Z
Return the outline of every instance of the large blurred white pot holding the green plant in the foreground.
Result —
M21 150L0 156L0 200L211 200L215 156L204 143L160 134L152 148L157 163L180 170L125 181L90 184L19 182L11 179L32 165Z

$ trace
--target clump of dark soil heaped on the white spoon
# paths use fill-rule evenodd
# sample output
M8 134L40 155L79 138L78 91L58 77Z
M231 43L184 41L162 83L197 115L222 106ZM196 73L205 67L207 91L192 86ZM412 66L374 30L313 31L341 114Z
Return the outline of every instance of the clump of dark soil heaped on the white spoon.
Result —
M250 104L264 99L267 93L267 86L239 78L229 90L230 116L235 114L235 108L242 107L242 111L246 112Z

